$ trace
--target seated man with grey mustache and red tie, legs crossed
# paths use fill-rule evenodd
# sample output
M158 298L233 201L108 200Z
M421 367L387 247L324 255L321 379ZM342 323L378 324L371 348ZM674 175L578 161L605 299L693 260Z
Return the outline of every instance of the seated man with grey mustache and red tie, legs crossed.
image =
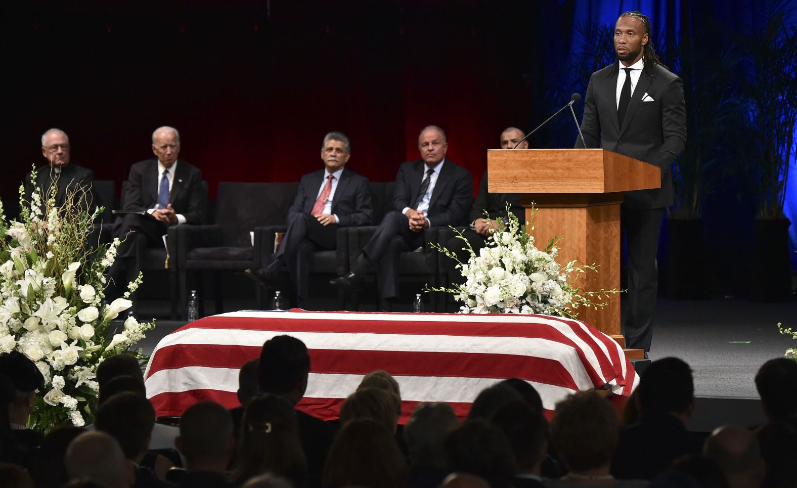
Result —
M296 199L288 211L288 231L274 260L262 270L246 274L264 284L277 281L288 266L296 290L296 306L304 308L308 298L310 258L313 251L336 248L340 227L371 223L371 191L368 179L344 167L351 156L351 143L342 132L329 132L321 144L323 170L301 177Z

